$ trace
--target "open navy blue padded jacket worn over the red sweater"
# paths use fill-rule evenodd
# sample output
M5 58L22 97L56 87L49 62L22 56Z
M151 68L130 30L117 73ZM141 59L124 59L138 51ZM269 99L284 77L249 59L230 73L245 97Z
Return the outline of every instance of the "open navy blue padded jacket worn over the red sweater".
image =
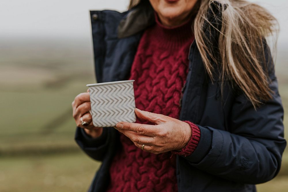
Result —
M220 18L219 6L214 2L212 9ZM151 5L124 13L91 11L91 20L97 82L127 80L143 30L154 22ZM219 19L209 20L221 27ZM217 47L217 30L205 34ZM255 110L228 81L221 95L220 80L212 82L207 77L196 42L192 43L179 119L197 124L201 138L192 155L176 157L179 191L256 191L255 184L271 180L279 172L286 146L283 107L268 46L265 53L274 94ZM118 132L105 128L100 138L92 139L77 128L75 140L90 157L102 161L89 191L105 191L111 160L121 146Z

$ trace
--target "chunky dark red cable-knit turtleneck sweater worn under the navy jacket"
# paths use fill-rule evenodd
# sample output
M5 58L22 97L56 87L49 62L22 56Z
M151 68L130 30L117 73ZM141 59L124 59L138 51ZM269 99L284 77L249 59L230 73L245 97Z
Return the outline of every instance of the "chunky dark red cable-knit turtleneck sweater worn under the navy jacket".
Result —
M181 88L188 71L189 47L194 40L191 21L166 28L158 21L148 28L139 43L132 64L136 107L179 118ZM137 123L152 124L137 119ZM197 126L189 121L192 137L179 155L190 155L200 139ZM111 164L108 191L178 191L176 161L171 153L155 155L137 148L120 135L121 149Z

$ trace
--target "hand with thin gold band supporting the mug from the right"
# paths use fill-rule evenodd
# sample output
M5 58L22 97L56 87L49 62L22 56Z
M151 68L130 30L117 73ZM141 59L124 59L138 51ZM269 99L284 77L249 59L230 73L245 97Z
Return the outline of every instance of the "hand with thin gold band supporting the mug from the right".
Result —
M144 151L154 154L167 151L181 151L191 138L190 125L166 115L135 109L137 117L155 123L155 125L119 122L115 129L126 135Z

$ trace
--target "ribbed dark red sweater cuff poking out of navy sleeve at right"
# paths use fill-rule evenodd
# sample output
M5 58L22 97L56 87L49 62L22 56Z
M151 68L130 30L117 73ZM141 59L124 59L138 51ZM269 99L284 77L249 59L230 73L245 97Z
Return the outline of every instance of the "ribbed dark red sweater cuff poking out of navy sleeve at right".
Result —
M194 123L191 123L190 121L184 121L188 123L191 127L192 135L190 140L188 141L187 145L182 148L181 151L171 151L172 154L175 155L183 155L185 157L191 155L193 151L196 149L198 142L200 140L201 132L198 126L196 126Z

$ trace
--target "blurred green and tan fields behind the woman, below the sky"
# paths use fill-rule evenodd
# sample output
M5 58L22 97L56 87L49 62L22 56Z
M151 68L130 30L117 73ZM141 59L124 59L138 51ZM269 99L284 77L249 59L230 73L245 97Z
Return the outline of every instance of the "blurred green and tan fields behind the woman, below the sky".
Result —
M92 58L87 42L33 41L29 47L25 42L0 47L0 191L88 189L100 162L74 142L71 102L86 92L86 84L95 82ZM281 62L286 60L280 55ZM281 62L276 71L287 111L288 70ZM286 113L284 119L287 132ZM287 191L287 150L279 175L257 188Z

